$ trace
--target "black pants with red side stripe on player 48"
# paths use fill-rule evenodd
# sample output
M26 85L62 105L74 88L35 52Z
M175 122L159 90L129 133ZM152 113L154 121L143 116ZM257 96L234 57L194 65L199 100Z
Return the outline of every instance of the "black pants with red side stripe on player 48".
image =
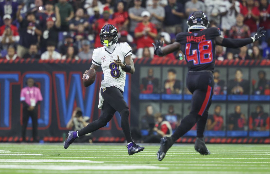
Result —
M192 93L190 114L186 116L172 135L174 141L182 137L197 123L197 137L203 137L208 109L212 102L214 78L211 71L190 71L186 84Z

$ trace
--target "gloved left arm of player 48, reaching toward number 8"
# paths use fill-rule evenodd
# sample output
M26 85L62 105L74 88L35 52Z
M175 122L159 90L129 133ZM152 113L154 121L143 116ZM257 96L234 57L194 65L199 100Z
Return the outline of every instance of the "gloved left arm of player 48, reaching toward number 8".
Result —
M179 42L174 42L172 44L166 45L165 47L162 47L163 42L161 42L160 40L156 40L155 43L152 44L155 48L154 54L158 56L164 56L173 53L175 51L180 50L181 48L181 44Z

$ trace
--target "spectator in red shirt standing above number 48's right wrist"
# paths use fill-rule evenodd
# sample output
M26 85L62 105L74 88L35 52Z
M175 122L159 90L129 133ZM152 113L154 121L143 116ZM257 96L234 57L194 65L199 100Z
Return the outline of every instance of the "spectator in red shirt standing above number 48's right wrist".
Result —
M257 20L259 20L260 11L258 7L254 6L254 0L248 0L247 6L241 9L241 13L244 15L244 24L249 26L250 32L257 31Z

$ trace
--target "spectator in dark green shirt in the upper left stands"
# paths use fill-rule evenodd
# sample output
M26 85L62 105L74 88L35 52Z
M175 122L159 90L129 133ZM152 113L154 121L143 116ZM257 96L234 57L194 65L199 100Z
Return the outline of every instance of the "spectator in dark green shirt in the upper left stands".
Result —
M55 4L59 8L60 18L61 18L61 31L68 31L69 21L74 17L74 11L72 5L70 5L67 0L59 0Z

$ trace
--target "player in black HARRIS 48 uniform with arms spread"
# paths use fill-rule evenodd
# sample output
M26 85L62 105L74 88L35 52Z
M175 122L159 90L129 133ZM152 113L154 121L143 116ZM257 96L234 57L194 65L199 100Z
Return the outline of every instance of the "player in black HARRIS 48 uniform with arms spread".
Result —
M178 33L176 41L165 47L161 41L154 45L155 54L164 56L181 49L185 54L188 65L186 84L192 93L191 111L182 121L171 137L163 137L161 146L157 152L157 158L161 161L174 142L189 131L197 123L197 140L195 150L202 155L210 154L205 146L203 133L208 117L208 109L213 95L215 68L215 46L221 45L228 48L239 48L257 41L264 36L265 31L259 28L253 37L245 39L229 39L221 36L216 27L207 28L209 25L207 16L202 11L191 13L187 20L188 32Z

